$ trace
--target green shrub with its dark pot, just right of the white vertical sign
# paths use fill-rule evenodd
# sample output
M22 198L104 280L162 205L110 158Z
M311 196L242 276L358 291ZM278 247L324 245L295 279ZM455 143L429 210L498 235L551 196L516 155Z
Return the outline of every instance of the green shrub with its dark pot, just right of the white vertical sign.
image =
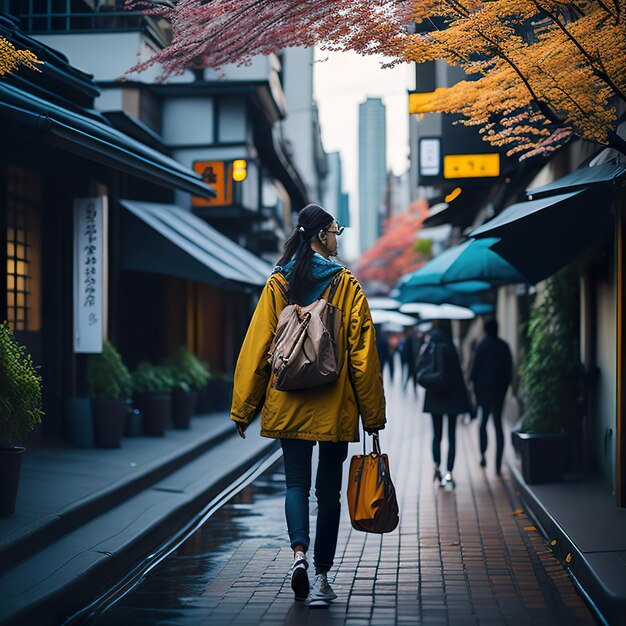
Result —
M87 361L87 385L99 448L119 448L132 392L132 379L122 357L105 340L102 353Z

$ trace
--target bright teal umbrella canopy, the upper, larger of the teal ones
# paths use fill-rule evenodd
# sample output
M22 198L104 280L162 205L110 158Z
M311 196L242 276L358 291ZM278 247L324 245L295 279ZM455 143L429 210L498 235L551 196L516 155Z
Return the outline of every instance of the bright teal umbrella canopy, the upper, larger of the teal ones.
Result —
M491 249L497 238L468 239L444 250L403 283L406 287L427 285L469 285L467 290L478 291L474 283L487 287L524 283L525 278L497 252Z

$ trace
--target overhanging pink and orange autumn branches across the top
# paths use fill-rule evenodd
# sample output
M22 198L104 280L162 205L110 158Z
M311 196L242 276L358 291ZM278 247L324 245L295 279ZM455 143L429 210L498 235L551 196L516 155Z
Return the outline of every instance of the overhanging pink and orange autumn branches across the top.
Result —
M626 0L127 2L172 25L171 44L133 71L219 69L316 44L383 54L390 64L442 59L468 80L436 91L422 111L461 114L521 157L575 137L626 152L615 132L626 102Z

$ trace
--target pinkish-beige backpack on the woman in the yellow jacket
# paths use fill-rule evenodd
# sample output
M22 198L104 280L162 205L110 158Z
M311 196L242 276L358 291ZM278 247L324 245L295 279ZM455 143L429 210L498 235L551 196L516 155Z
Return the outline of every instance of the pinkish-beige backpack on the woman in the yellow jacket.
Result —
M280 313L268 352L272 387L299 391L334 382L341 371L341 309L331 304L336 276L322 296L307 306L288 304Z

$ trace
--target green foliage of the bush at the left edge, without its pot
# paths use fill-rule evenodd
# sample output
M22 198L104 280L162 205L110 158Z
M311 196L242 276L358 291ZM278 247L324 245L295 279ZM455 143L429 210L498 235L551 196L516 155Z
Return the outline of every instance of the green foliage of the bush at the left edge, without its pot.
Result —
M43 415L41 376L26 348L0 324L0 443L24 443Z

